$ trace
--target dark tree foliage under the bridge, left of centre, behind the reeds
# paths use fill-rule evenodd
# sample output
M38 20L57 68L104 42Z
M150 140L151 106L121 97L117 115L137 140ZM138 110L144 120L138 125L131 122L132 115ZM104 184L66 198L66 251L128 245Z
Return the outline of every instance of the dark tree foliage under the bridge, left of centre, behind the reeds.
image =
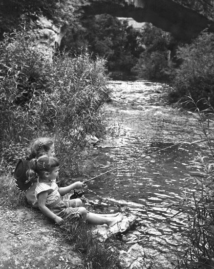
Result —
M75 53L87 48L94 55L105 57L110 70L130 71L140 52L138 44L140 32L127 21L107 14L89 16L81 25L71 27L62 41L62 48Z

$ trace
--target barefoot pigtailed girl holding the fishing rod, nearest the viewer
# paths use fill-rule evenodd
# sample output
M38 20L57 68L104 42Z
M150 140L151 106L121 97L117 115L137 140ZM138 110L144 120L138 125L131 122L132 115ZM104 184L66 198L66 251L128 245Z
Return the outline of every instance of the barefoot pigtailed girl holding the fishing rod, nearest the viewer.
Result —
M29 162L27 175L29 179L38 178L35 190L35 197L43 214L51 218L56 224L62 224L66 218L76 218L82 216L88 224L107 224L113 226L121 222L121 218L116 214L94 214L88 213L85 207L77 207L73 200L63 201L61 196L72 189L80 189L83 182L77 181L69 186L59 188L55 179L59 173L59 162L55 157L44 155Z

